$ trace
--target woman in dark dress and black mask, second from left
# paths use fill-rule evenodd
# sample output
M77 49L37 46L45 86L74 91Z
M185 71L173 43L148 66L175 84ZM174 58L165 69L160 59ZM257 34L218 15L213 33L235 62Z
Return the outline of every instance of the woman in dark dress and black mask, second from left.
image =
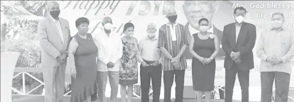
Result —
M72 71L71 102L90 102L96 91L96 56L98 48L88 32L89 20L78 18L78 33L69 45L69 59Z

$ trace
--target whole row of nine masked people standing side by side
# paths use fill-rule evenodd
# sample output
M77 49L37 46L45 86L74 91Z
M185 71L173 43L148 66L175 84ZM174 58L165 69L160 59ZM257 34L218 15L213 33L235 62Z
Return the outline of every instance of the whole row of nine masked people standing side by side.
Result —
M125 36L122 38L111 31L113 22L110 17L104 17L104 29L92 35L87 33L89 20L78 18L75 22L78 32L71 37L69 22L58 17L59 5L50 2L48 10L50 15L40 20L38 25L43 78L46 83L45 102L62 101L66 61L70 61L72 73L71 102L90 102L96 99L106 102L108 78L111 87L110 101L117 97L120 84L122 101L130 102L133 85L138 83L138 62L141 63L143 102L149 101L151 79L153 102L159 101L162 71L164 101L171 102L171 87L175 80L175 101L182 102L187 69L184 55L186 49L192 56L193 89L197 91L197 99L201 101L202 92L205 92L206 101L209 102L214 89L215 57L220 45L225 52L225 102L232 102L237 73L242 89L242 102L249 101L249 70L254 67L252 49L255 45L256 28L253 24L244 22L247 11L243 7L234 10L236 22L224 26L221 40L209 32L212 25L206 18L199 20L199 31L194 31L192 37L187 38L185 27L176 22L177 13L173 9L167 14L169 22L158 31L154 23L148 24L146 32L142 31L146 33L146 37L141 41L133 37L135 25L130 22L124 24ZM272 22L272 27L262 32L256 49L257 56L262 59L262 102L271 101L274 80L276 101L287 101L290 64L294 55L294 32L282 26L283 14L273 14Z

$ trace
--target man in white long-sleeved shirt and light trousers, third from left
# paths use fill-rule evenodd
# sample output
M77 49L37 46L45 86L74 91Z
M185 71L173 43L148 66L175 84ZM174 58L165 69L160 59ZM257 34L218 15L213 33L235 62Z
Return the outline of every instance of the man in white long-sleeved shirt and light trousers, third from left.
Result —
M120 35L111 31L112 19L110 17L104 17L102 24L104 29L100 33L96 33L93 38L99 49L97 60L98 99L99 102L106 102L107 77L109 77L111 87L110 101L117 97L122 42Z

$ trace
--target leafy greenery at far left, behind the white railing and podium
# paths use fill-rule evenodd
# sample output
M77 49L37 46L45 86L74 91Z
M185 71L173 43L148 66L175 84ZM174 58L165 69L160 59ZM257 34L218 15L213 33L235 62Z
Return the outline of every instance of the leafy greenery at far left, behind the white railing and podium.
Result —
M47 2L1 1L1 52L20 52L16 67L41 67L37 28L38 20L46 15ZM42 73L29 74L43 81ZM40 85L28 76L25 76L25 79L28 91ZM20 90L21 86L22 76L17 76L13 79L12 87ZM43 88L44 86L41 86L31 94L41 94Z

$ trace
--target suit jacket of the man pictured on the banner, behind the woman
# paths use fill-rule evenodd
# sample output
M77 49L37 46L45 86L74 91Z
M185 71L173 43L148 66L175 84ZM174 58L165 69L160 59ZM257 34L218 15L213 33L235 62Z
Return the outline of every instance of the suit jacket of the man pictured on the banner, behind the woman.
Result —
M190 44L190 40L192 38L191 36L191 33L189 31L189 23L187 23L185 25L185 33L187 35L187 39L188 39L188 42ZM222 37L222 31L220 31L219 29L217 29L215 26L213 26L213 33L215 33L215 35L217 36L217 38L220 40L221 37ZM186 56L186 59L192 59L192 55L191 53L189 52L189 47L187 47L184 55ZM224 56L225 56L225 53L224 51L220 48L217 55L216 55L216 60L223 60L224 59Z

